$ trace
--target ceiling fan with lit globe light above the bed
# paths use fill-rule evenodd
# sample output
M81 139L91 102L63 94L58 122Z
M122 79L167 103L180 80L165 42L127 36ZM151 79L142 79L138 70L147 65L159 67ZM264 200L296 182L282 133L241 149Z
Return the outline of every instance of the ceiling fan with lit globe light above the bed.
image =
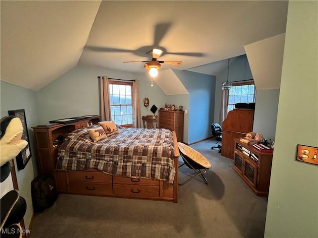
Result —
M153 59L149 61L124 61L123 63L145 63L145 68L149 70L149 74L152 77L156 77L158 75L158 69L160 68L161 64L160 63L165 63L165 64L171 64L171 65L176 65L180 66L182 64L182 61L162 61L162 60L157 60L161 55L163 51L159 49L153 49L146 54L152 55Z

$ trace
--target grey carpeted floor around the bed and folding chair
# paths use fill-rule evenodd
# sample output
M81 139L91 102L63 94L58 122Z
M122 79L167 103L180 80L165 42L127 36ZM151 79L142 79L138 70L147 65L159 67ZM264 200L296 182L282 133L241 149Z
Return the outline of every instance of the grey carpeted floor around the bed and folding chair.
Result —
M179 186L177 204L60 194L35 215L31 238L262 238L267 198L239 178L233 160L211 150L215 142L191 145L212 164L209 184L197 178ZM179 180L191 173L181 167Z

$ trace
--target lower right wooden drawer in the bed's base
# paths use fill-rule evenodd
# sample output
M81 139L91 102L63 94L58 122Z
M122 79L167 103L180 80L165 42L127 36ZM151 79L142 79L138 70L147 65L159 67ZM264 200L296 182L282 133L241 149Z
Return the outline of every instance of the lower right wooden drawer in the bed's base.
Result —
M130 197L159 197L159 186L114 184L114 195Z

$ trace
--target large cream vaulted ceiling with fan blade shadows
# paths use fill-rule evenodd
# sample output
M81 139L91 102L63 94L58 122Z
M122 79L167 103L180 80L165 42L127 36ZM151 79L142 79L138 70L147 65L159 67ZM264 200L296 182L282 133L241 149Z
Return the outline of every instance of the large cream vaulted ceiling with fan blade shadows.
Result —
M159 70L216 75L244 46L286 29L288 1L1 0L1 80L34 91L76 65L145 72L153 48Z

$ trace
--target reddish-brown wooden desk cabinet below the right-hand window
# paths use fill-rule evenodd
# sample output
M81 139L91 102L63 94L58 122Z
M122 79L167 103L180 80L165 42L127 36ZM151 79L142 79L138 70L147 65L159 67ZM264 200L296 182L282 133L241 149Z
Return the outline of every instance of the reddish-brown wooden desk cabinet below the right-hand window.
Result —
M244 137L253 130L254 110L233 109L228 113L222 124L221 155L232 159L234 153L234 138Z

